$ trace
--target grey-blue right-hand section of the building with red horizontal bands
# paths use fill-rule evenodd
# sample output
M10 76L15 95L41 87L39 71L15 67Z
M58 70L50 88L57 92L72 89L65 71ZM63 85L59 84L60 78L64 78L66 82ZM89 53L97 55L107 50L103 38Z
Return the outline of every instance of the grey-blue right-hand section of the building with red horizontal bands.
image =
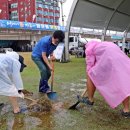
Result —
M57 0L36 0L36 22L58 25L60 8Z

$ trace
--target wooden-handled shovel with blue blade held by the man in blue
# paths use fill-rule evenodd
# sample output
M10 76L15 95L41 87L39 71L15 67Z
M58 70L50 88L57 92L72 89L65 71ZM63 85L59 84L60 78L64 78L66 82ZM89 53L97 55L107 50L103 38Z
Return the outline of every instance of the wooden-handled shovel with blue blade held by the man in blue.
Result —
M56 100L58 95L56 92L53 92L53 81L54 81L54 62L53 61L51 61L51 65L53 69L51 72L51 92L47 93L47 96L51 100Z

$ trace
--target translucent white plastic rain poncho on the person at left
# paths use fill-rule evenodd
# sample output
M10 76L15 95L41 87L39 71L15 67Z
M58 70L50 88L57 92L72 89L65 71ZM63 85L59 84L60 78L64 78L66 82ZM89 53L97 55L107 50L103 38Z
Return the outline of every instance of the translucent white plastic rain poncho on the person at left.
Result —
M17 58L0 54L0 95L22 97L18 93L23 89L20 67Z

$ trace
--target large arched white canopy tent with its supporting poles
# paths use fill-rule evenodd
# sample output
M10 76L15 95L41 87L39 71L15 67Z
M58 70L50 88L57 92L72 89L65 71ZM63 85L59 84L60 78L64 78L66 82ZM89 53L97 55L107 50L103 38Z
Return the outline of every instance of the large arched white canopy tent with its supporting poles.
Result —
M68 37L70 26L101 29L102 40L107 30L130 31L130 0L74 0L66 26L65 59L69 60Z

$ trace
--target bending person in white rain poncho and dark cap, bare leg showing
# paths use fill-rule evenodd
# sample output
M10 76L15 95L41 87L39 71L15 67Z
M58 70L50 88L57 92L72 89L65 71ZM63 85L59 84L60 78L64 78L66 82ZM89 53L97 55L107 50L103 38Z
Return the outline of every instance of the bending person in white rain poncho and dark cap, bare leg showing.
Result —
M0 54L0 95L8 96L14 113L19 113L20 108L17 97L24 98L23 82L20 72L26 65L24 59L16 52Z

